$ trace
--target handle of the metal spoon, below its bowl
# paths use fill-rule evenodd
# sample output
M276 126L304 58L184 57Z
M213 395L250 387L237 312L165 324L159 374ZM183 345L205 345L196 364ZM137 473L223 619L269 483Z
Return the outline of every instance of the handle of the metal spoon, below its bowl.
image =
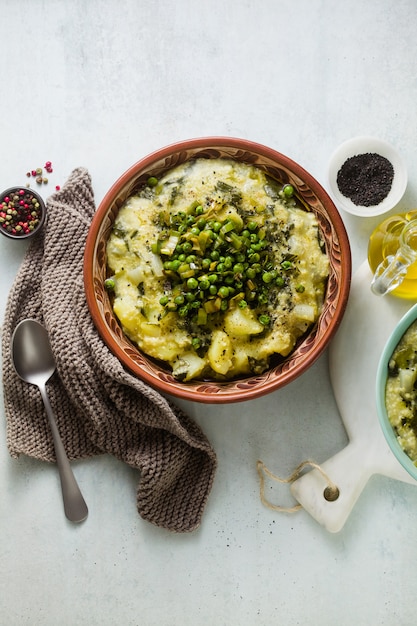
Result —
M61 479L62 497L64 500L64 511L66 517L71 522L82 522L88 515L88 508L82 496L80 488L75 480L68 457L65 452L55 416L49 402L45 385L38 385L45 405L46 414L54 440L55 456L58 465L59 477Z

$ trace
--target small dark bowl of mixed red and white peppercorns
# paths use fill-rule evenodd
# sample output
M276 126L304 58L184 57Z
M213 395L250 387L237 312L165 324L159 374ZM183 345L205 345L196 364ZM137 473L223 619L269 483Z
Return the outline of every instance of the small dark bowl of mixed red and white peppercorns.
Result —
M29 187L9 187L0 193L0 233L10 239L37 235L46 219L42 197Z

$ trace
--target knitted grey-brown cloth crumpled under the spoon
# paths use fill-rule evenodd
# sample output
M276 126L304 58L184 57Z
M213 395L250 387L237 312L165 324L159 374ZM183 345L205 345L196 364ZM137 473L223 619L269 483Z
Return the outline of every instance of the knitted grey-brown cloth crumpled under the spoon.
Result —
M106 452L138 468L139 514L172 531L194 530L216 456L197 424L127 372L96 332L83 285L85 239L95 210L88 172L74 170L47 207L46 226L26 252L3 324L9 452L55 460L40 393L19 379L11 362L13 330L30 317L50 336L57 372L48 394L69 458Z

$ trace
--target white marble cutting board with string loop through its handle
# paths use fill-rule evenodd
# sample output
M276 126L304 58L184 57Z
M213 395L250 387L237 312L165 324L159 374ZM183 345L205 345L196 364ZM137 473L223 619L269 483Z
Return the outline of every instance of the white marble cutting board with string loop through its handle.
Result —
M414 302L375 296L370 290L371 278L364 262L352 279L346 313L329 348L331 383L349 443L320 467L338 486L340 495L333 502L324 498L327 483L316 469L291 487L304 509L330 532L342 529L373 474L417 486L385 441L375 401L380 355L395 325Z

